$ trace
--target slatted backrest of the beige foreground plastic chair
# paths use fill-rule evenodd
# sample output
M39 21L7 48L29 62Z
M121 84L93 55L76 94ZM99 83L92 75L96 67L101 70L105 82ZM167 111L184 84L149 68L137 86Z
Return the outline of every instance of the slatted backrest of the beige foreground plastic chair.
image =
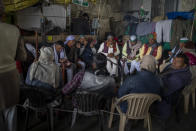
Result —
M130 119L144 119L147 117L151 104L161 97L156 94L129 94L120 98L119 102L128 103L126 115Z

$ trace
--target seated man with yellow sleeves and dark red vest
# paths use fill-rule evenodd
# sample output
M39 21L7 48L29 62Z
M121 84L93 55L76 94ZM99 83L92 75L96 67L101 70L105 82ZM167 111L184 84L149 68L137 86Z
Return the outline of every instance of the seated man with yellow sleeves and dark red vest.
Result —
M149 43L142 46L140 59L142 59L145 55L154 56L157 63L162 57L162 46L159 43L156 43L156 38L153 34L149 35Z

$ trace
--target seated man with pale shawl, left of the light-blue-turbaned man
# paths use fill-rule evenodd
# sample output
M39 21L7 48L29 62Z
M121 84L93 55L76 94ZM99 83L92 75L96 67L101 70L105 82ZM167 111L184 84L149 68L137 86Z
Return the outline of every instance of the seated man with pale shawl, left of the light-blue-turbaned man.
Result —
M64 43L62 41L58 41L54 43L53 45L54 60L58 66L61 66L61 63L66 63L67 81L69 82L73 78L73 65L67 59L63 46L64 46Z

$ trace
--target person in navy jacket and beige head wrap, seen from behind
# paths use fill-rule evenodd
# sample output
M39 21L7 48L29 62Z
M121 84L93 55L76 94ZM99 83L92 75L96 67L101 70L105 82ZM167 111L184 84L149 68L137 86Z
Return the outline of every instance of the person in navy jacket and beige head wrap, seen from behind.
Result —
M118 90L118 98L130 93L161 93L161 84L156 72L156 60L151 55L146 55L141 61L141 71L129 76ZM123 112L127 110L127 103L121 104Z

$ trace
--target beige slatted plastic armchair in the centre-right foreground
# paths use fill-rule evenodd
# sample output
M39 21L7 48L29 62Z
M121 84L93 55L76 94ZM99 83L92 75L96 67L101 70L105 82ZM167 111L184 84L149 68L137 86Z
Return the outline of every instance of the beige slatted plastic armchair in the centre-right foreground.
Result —
M119 131L124 131L125 123L128 119L144 119L144 127L147 127L148 125L148 131L151 131L151 116L149 108L156 100L161 101L161 97L155 94L129 94L120 99L113 99L108 127L111 128L113 113L116 108L120 114ZM119 104L125 101L127 101L128 108L127 112L123 113Z

